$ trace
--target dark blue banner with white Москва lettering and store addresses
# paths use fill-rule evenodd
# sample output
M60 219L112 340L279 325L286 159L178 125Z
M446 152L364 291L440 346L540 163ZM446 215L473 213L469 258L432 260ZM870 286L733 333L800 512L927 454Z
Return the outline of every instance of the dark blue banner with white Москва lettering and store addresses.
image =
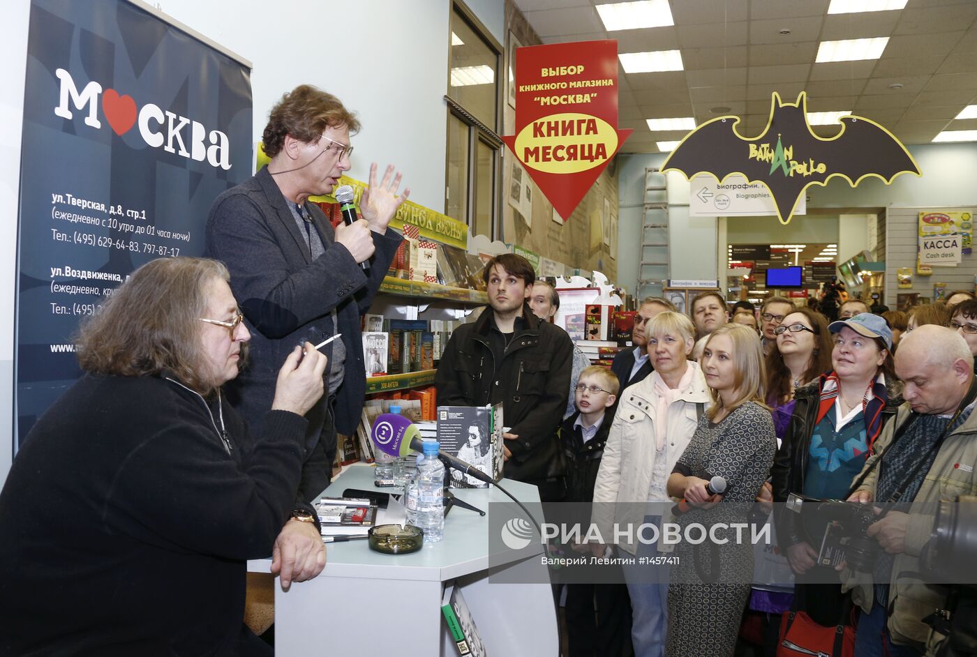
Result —
M17 438L80 375L72 336L136 267L199 256L251 173L251 72L125 0L32 0L18 217Z

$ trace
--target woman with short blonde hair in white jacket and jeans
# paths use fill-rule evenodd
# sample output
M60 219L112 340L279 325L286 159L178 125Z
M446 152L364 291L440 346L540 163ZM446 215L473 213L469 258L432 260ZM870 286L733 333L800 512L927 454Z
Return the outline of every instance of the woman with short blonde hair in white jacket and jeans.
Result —
M671 508L668 475L712 401L699 364L688 360L695 345L692 321L665 311L648 320L648 352L655 371L621 393L594 487L592 520L606 542L629 555L660 556L656 543L662 514ZM644 529L639 527L645 524ZM603 547L594 547L594 552ZM631 595L631 639L637 657L663 654L667 628L668 569L624 568Z

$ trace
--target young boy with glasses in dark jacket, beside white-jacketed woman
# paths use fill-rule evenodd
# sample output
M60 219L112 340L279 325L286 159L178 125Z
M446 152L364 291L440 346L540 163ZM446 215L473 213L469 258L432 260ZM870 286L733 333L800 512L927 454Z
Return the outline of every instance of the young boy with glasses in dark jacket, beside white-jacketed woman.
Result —
M580 372L573 390L576 412L563 421L559 430L560 446L567 459L566 502L590 503L594 499L594 482L614 423L619 386L616 375L600 365ZM616 584L567 585L565 610L571 657L620 654L615 646L630 636L631 618L630 608L620 608L628 599L626 589L621 597L622 588Z

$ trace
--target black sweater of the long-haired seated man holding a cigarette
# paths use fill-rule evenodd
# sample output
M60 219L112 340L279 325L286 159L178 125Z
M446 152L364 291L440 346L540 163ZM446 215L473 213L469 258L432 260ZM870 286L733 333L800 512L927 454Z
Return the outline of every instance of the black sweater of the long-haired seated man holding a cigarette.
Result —
M295 500L306 420L253 439L159 378L85 375L27 434L0 493L0 655L234 654L245 560Z

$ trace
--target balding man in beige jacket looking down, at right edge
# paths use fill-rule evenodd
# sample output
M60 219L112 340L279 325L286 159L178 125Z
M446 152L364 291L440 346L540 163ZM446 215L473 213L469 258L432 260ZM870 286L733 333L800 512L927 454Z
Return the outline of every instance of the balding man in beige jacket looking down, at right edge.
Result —
M977 388L966 342L949 328L920 326L903 337L896 373L907 403L882 429L849 497L908 507L880 513L868 526L867 536L880 549L871 572L853 567L842 576L842 589L862 608L859 657L922 654L930 633L922 619L943 606L948 590L920 579L919 556L934 519L920 509L977 492L977 417L971 413Z

